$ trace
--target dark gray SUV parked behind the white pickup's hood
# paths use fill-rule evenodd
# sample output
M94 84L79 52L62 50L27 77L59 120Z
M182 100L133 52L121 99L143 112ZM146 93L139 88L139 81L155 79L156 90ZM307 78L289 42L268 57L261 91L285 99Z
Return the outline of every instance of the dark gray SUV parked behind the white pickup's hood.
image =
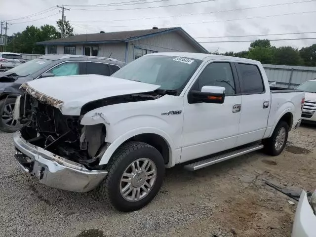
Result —
M58 76L98 74L110 76L126 63L113 58L94 56L46 54L40 58L0 73L0 130L14 132L19 129L13 118L15 98L26 81Z

